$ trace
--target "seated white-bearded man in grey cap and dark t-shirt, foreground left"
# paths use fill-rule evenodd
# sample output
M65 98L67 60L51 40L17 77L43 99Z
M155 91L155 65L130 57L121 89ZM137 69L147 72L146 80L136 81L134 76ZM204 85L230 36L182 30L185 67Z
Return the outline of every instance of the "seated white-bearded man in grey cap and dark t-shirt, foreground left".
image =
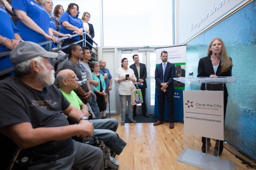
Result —
M48 163L34 164L33 169L103 169L99 148L71 139L74 135L89 138L94 128L52 85L49 58L57 56L28 41L10 53L15 77L0 82L1 168L10 163L18 146L36 153L33 161ZM64 114L79 123L69 125Z

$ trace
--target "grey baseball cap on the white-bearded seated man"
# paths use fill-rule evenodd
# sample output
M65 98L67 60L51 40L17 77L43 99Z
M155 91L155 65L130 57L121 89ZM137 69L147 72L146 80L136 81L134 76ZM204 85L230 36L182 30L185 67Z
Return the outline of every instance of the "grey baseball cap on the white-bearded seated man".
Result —
M26 62L35 57L46 57L46 58L56 58L58 53L47 52L43 47L36 43L30 41L24 41L19 43L11 52L10 60L12 64L19 64Z

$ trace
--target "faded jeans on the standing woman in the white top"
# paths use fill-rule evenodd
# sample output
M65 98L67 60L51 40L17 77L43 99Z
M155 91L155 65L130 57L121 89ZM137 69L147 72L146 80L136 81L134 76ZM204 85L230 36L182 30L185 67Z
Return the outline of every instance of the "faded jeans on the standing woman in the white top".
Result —
M127 108L129 120L132 120L133 106L131 104L131 95L119 95L119 98L120 98L120 103L121 103L122 121L125 121L126 108Z

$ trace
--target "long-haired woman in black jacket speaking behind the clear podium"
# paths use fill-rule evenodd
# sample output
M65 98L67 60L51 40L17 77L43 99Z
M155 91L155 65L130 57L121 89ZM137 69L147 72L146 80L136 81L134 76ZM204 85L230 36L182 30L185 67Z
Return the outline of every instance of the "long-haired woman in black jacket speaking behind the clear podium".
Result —
M211 40L208 46L207 56L199 60L197 77L231 77L231 69L233 63L232 59L228 56L225 44L220 38ZM201 90L205 90L202 84ZM228 90L226 84L207 84L207 90L222 91L224 94L224 121L226 116L226 108L228 103ZM206 142L207 140L207 142ZM202 152L206 152L211 147L210 138L202 137ZM217 140L214 147L214 156L221 155L223 150L223 141ZM219 151L219 152L218 152Z

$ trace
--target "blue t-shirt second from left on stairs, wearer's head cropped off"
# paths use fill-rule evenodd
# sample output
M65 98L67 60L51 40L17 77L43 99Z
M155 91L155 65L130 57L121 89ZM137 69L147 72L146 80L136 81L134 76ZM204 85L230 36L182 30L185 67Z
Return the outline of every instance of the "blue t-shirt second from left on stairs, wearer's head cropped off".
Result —
M12 8L21 10L27 13L29 18L33 20L45 33L49 34L50 17L45 11L45 8L34 0L12 0ZM20 30L21 37L25 41L34 43L42 43L47 39L34 30L28 28L20 20L17 22L17 28Z

